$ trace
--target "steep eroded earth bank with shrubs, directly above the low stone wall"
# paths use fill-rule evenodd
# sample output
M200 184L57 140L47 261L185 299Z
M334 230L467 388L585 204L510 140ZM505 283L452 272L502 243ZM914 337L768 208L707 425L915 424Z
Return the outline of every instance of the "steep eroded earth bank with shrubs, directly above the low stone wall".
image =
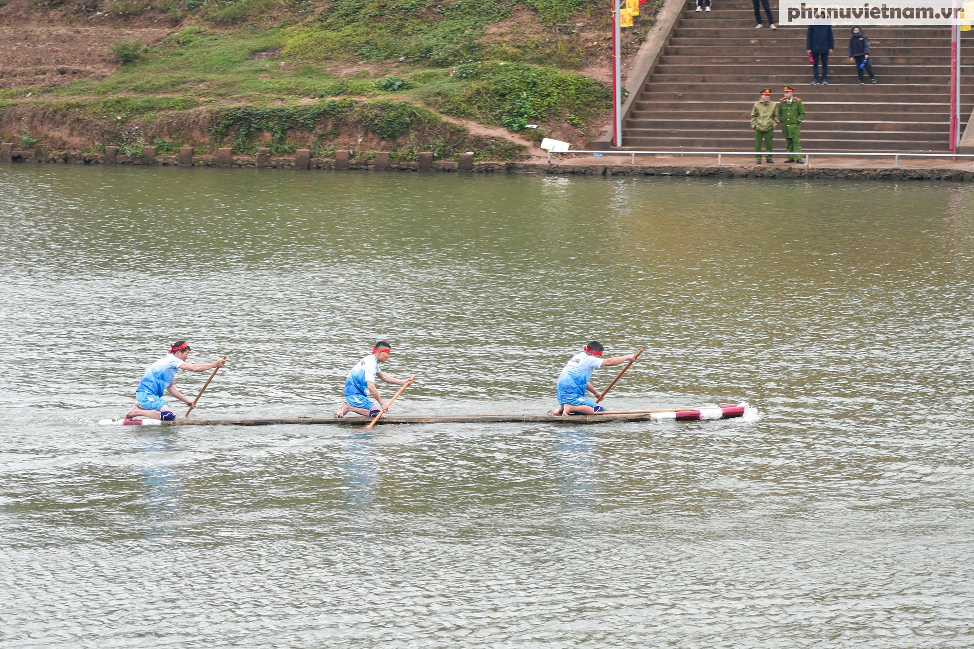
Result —
M424 151L436 160L457 160L468 151L478 160L532 157L530 142L476 126L382 98L229 108L183 97L0 104L0 141L32 156L40 152L34 157L41 159L49 154L103 154L106 146L116 146L132 159L141 157L146 146L164 156L184 147L198 155L223 147L254 155L266 147L279 156L310 149L318 158L333 157L339 150L387 151L396 162L417 161Z

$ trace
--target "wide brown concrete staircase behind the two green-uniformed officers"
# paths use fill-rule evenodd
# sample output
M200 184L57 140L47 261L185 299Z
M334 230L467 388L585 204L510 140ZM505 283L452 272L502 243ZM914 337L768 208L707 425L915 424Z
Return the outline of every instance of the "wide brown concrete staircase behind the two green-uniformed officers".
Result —
M622 126L626 149L753 150L751 105L770 87L789 84L805 101L807 151L946 152L950 133L950 30L863 27L879 85L855 86L846 56L849 29L834 27L829 86L809 86L806 27L755 29L751 2L714 0L694 12L688 0L669 41ZM776 3L771 3L777 19ZM767 19L767 18L766 18ZM970 32L968 32L970 33ZM966 39L965 39L966 40ZM962 71L974 64L974 38L961 49ZM974 105L974 79L964 82L961 129ZM780 126L775 149L784 149Z

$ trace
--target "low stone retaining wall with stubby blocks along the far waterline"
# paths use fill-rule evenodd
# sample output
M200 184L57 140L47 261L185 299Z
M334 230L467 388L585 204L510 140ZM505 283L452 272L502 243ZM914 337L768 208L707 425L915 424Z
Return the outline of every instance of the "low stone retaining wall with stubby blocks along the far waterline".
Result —
M146 147L150 149L151 147ZM13 145L0 146L0 162L47 162L64 164L145 164L172 166L213 166L224 168L272 169L391 169L398 171L469 171L474 173L546 173L552 175L589 176L683 176L703 178L843 178L852 180L954 180L974 181L974 171L947 168L830 168L821 166L716 166L716 165L644 165L644 164L570 164L546 162L473 162L469 154L460 162L434 162L423 156L417 162L390 162L389 154L380 152L375 159L353 158L350 152L338 152L335 158L311 158L307 149L295 152L293 158L272 156L261 150L256 156L234 156L229 149L218 155L192 155L183 149L175 156L157 156L154 151L143 156L119 155L116 147L106 147L105 154L48 153L16 151Z

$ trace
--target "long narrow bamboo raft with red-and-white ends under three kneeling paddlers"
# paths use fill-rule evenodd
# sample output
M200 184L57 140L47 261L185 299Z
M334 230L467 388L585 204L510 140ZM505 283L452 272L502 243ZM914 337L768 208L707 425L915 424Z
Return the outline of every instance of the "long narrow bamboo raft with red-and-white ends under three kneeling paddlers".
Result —
M695 410L656 411L644 413L607 413L606 415L385 415L379 425L407 423L610 423L629 421L706 421L709 419L732 419L743 416L746 404L729 404ZM116 426L272 426L281 424L303 425L353 425L363 426L372 420L367 416L335 417L297 416L284 418L256 419L101 419L102 425Z

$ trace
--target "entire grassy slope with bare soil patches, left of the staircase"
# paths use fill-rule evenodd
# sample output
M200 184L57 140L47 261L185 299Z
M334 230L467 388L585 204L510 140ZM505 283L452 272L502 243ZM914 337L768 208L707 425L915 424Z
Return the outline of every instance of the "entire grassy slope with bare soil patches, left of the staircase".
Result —
M376 147L404 159L472 147L516 160L545 135L583 144L610 105L595 78L608 71L608 13L586 0L56 1L46 13L12 2L0 19L87 30L114 66L5 74L0 135L19 146ZM628 54L650 24L627 32Z

